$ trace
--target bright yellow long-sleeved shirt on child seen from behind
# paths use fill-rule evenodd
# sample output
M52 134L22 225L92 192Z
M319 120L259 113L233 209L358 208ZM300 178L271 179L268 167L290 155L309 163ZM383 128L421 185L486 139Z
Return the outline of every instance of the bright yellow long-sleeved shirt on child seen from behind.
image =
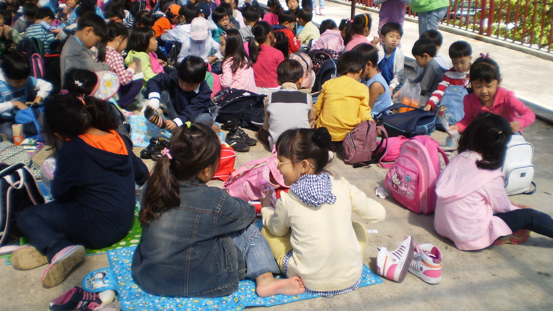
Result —
M369 88L348 76L326 81L315 102L315 109L316 127L326 127L335 142L343 141L359 123L373 120Z

